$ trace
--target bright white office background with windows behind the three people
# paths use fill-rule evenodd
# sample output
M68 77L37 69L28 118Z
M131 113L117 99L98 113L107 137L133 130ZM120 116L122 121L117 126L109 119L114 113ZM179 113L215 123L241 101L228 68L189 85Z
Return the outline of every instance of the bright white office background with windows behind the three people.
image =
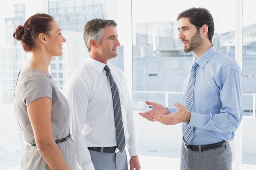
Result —
M12 35L34 13L54 16L67 39L63 56L53 57L49 67L60 89L88 57L83 42L85 22L93 18L115 20L121 45L118 56L110 62L121 68L128 80L141 155L170 157L173 150L179 151L181 125L148 122L138 113L150 109L145 101L166 106L183 103L183 79L193 53L184 53L176 18L191 7L209 9L215 22L213 45L236 60L243 72L244 117L231 141L232 166L242 170L243 164L256 165L256 19L251 14L255 10L252 0L9 0L0 5L0 168L19 169L25 146L15 117L13 95L18 72L30 54ZM170 155L161 155L161 148L168 148ZM174 168L170 165L168 169Z

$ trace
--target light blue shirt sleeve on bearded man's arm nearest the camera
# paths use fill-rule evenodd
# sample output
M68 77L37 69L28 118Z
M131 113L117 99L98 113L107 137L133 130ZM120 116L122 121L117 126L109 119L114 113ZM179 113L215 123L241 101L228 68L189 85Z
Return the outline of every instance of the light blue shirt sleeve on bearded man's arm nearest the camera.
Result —
M218 90L219 97L216 96L220 102L216 102L217 105L215 106L220 108L219 113L209 112L207 114L200 114L192 112L189 125L217 132L235 131L243 115L241 110L243 84L240 77L242 77L241 73L234 69L230 69L221 75L220 84L222 86Z

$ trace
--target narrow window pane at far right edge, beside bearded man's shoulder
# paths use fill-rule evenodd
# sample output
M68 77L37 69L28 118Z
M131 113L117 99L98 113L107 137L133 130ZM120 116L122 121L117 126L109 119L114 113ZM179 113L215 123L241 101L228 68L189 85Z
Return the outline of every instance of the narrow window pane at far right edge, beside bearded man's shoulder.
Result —
M250 0L243 0L243 79L245 115L255 116L256 93L256 20L249 11L254 10Z

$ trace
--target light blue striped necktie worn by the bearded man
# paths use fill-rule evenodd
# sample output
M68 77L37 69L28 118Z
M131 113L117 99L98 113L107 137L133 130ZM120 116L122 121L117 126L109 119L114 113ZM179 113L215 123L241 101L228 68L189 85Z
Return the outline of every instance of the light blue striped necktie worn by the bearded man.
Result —
M194 61L191 67L190 72L190 78L189 78L189 84L188 89L186 92L186 110L189 112L193 112L193 97L194 97L194 89L195 89L195 75L196 75L196 67L198 64ZM189 126L189 124L185 124L185 135L184 138L188 143L192 140L194 137L194 127Z

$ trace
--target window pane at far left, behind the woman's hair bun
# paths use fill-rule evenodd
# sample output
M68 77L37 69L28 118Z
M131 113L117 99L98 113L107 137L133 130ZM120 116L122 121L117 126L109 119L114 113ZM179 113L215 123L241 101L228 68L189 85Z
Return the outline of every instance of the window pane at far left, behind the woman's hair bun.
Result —
M0 15L0 63L3 66L0 73L8 73L8 76L1 77L0 103L12 104L18 67L27 61L27 54L12 36L16 26L25 22L25 4L1 4L1 11L4 13Z

